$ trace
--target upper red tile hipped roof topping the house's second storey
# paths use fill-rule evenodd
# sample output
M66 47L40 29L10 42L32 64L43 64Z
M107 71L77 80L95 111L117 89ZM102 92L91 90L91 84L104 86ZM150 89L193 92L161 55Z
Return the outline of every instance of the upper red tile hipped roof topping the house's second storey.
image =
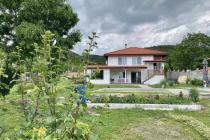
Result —
M146 48L130 47L130 48L125 48L122 50L117 50L117 51L104 54L104 56L112 56L112 55L163 55L163 56L166 56L168 55L168 53L152 50L152 49L146 49Z

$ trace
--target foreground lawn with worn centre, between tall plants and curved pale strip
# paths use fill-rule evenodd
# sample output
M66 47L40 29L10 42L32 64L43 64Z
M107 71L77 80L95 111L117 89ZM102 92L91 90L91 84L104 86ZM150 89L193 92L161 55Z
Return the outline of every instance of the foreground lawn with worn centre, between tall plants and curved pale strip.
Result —
M179 111L122 109L97 112L101 113L100 117L86 116L84 120L91 123L92 131L100 140L203 139L193 128L167 117L168 113L179 114Z

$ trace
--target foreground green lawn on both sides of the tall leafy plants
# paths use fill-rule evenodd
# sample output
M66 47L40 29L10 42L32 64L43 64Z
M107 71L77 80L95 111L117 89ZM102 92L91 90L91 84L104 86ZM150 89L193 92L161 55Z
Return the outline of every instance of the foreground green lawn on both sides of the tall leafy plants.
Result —
M23 114L8 96L6 102L0 101L0 136L4 132L14 134L24 124ZM191 116L210 127L210 99L200 101L206 108L202 111L149 111L141 109L93 109L100 116L85 114L81 119L90 124L93 134L100 140L199 140L204 137L195 128L184 122L169 118L169 114Z

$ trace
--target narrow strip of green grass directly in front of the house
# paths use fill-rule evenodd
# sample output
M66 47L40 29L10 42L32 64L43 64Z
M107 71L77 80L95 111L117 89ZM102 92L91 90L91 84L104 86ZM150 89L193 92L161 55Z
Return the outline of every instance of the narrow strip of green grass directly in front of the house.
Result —
M102 88L140 88L136 84L105 84L105 85L94 85L93 90L102 89Z

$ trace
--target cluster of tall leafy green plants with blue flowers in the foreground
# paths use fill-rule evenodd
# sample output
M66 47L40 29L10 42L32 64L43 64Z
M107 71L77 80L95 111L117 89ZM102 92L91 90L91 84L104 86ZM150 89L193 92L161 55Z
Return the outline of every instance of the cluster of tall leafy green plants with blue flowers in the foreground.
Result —
M22 111L27 125L18 137L29 139L88 139L90 129L79 118L86 109L89 86L76 88L58 85L65 61L64 50L54 43L55 35L50 31L42 36L42 43L34 44L35 58L21 60L18 93L22 95ZM56 56L56 57L55 57ZM87 84L88 85L88 84ZM66 94L60 98L60 93Z

